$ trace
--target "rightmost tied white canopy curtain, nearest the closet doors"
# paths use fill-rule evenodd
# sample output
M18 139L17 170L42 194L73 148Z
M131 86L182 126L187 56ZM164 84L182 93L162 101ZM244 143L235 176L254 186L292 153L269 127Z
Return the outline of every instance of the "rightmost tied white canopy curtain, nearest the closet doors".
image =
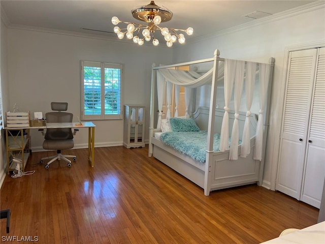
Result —
M253 159L262 161L263 153L263 109L265 107L271 65L259 64L259 115L257 120L255 150Z

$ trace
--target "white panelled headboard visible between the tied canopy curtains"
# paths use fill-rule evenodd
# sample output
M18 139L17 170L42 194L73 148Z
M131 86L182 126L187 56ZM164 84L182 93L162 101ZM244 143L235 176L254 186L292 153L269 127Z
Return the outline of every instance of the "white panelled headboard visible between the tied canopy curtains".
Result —
M215 123L214 123L214 133L220 134L221 125L223 119L224 109L215 109ZM209 121L209 108L208 107L199 107L197 111L193 113L192 116L197 125L201 130L208 130L208 121ZM235 111L229 111L229 136L231 136L233 124L235 119ZM246 119L246 112L239 112L239 139L242 139L244 125ZM255 136L257 126L257 115L250 115L250 138Z

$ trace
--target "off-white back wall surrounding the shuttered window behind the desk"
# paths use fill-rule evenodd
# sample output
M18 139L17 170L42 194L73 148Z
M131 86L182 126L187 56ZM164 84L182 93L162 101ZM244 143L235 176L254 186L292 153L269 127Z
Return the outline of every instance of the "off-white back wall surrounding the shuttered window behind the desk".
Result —
M14 104L20 111L51 110L52 101L68 102L74 121L80 116L80 60L122 63L123 104L145 105L148 138L151 66L170 64L172 49L138 46L132 41L86 38L8 29L9 109ZM95 146L122 145L122 120L95 120ZM75 136L75 147L86 147L87 130ZM31 131L32 150L42 149L44 137Z

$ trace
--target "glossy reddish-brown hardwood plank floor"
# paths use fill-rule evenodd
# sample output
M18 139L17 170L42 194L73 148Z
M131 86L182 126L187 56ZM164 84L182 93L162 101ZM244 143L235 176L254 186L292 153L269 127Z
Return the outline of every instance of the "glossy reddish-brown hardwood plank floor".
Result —
M286 228L316 224L318 209L256 185L211 192L148 157L148 148L87 149L68 168L45 169L33 153L20 178L6 176L0 209L11 209L10 233L38 243L259 243ZM13 242L8 242L13 243ZM17 243L17 242L15 242ZM35 243L21 241L19 243Z

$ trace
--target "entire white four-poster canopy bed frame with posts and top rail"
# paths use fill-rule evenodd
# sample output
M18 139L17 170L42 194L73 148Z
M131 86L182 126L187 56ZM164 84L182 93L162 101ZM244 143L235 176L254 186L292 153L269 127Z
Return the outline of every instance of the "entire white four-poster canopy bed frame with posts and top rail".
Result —
M211 62L214 60L215 73L218 73L218 65L216 61L224 60L219 58L219 51L214 52L213 59L204 59L198 60L197 62L188 62L182 63L168 67L177 67L183 65L191 65L196 63ZM270 60L272 63L271 66L271 76L272 79L274 59ZM162 68L162 67L160 67ZM155 77L154 68L152 69L152 77ZM182 153L179 153L171 146L168 146L161 142L159 139L154 137L155 132L160 132L160 129L153 128L153 115L155 113L154 107L154 89L155 89L155 79L152 78L152 95L151 95L151 110L150 110L150 127L149 127L149 157L153 156L164 164L168 165L181 175L185 176L199 187L204 189L204 194L208 196L211 191L219 190L224 188L230 188L241 185L248 185L257 183L258 186L262 185L263 180L263 170L264 170L264 160L258 161L253 159L254 154L254 143L255 137L254 133L257 125L257 118L255 114L251 114L250 118L250 154L246 158L241 158L238 156L238 160L229 160L229 150L224 152L214 152L212 150L212 139L214 133L219 133L221 130L222 118L224 115L223 109L213 109L216 107L215 94L216 94L216 77L213 75L212 80L212 91L211 91L211 101L210 108L200 107L193 114L193 118L196 120L197 125L201 130L208 130L208 145L207 145L207 155L206 163L201 163L191 159L189 156L186 156ZM269 82L270 86L271 82ZM270 95L269 87L269 95ZM269 96L270 98L270 96ZM264 128L264 153L266 146L266 137L268 130L268 113L269 113L269 98L267 102L267 109L265 111L265 128ZM239 131L243 131L245 123L246 113L240 113L239 118ZM233 124L234 112L230 111L229 113L230 125ZM215 123L216 121L216 123ZM232 128L230 126L230 128ZM240 133L241 135L242 133ZM241 139L241 137L239 138ZM211 141L209 143L209 141ZM240 155L241 146L238 148L238 154ZM263 153L263 158L264 158Z

